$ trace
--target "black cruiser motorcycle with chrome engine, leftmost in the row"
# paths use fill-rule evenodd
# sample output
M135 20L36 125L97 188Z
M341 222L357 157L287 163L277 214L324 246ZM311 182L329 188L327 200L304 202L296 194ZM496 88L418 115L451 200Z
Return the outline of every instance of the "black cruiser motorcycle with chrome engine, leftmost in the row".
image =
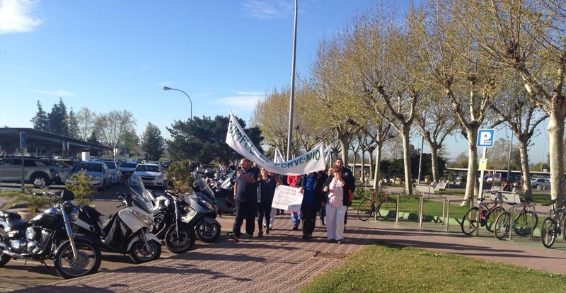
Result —
M71 202L74 193L63 190L52 194L47 190L35 195L52 197L55 205L30 222L19 214L0 211L0 267L11 258L22 258L44 265L47 265L45 260L53 260L55 270L65 279L98 271L102 260L100 249L89 239L75 237L73 231L79 222L78 211Z

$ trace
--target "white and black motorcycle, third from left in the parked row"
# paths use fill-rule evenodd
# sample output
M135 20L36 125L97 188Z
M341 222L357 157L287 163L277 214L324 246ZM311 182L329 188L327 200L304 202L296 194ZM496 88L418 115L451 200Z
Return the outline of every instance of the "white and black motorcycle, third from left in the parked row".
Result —
M169 183L172 184L172 183ZM188 195L178 194L169 185L164 195L154 197L152 232L165 241L172 253L185 253L195 245L195 223L204 216L204 209L191 204Z

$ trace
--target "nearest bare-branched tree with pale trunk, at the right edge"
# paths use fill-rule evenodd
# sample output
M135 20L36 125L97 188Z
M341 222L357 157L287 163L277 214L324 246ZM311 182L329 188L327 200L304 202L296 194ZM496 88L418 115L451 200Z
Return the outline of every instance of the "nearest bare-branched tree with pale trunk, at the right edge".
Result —
M566 199L564 123L566 118L566 1L446 1L450 14L497 66L521 75L533 103L550 117L550 180L553 199Z

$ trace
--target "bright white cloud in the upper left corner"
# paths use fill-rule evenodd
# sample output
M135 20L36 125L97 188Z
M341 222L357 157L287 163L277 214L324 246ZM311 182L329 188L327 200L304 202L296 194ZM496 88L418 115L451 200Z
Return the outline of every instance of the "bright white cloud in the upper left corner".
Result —
M29 32L43 23L33 16L37 4L34 0L0 0L0 34Z

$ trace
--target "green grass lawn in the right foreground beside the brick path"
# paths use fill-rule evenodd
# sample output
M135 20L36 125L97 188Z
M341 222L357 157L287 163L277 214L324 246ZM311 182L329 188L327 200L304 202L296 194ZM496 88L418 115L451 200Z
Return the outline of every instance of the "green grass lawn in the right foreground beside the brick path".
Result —
M528 288L528 289L527 289ZM564 292L566 276L514 265L378 243L301 292Z

